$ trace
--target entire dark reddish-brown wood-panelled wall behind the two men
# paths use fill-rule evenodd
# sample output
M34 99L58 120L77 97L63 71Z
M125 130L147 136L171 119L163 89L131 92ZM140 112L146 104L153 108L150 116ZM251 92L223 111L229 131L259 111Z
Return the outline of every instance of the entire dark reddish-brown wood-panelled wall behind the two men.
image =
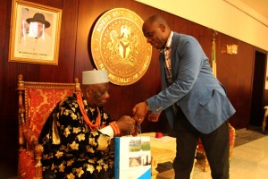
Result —
M127 8L146 19L153 13L161 13L170 23L172 30L186 33L198 39L205 54L211 57L214 30L184 20L170 13L139 4L131 0L30 0L63 9L58 65L20 64L8 62L9 35L12 1L2 0L0 6L0 178L16 175L17 165L17 74L22 73L27 81L72 82L81 79L81 72L95 67L90 54L90 31L94 22L105 11L113 8ZM239 45L238 55L227 55L227 44ZM218 79L226 87L231 103L237 113L230 119L236 128L247 127L253 79L255 47L236 38L218 33L216 36L216 58ZM111 83L111 98L106 105L113 118L131 115L132 107L160 90L158 52L153 49L152 61L146 74L138 82L128 86ZM142 132L168 130L164 115L158 123L145 122ZM3 176L3 177L1 177Z

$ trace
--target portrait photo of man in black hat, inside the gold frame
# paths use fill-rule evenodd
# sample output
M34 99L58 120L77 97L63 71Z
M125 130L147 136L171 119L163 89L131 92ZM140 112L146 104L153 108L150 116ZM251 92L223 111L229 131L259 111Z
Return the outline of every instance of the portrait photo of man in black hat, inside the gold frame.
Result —
M33 13L29 17L29 10L21 13L21 39L18 44L18 50L21 54L25 55L38 55L42 58L52 54L52 38L46 30L51 26L47 21L49 14L46 13Z

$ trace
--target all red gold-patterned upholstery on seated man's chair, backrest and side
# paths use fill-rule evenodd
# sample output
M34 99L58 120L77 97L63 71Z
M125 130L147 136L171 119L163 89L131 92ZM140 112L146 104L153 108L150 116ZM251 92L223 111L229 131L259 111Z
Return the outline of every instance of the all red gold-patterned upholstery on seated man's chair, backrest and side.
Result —
M37 141L47 117L56 104L71 96L74 90L44 90L30 89L26 91L27 122L23 126L23 133L27 141ZM33 179L35 175L34 151L22 149L19 154L19 174L23 179Z

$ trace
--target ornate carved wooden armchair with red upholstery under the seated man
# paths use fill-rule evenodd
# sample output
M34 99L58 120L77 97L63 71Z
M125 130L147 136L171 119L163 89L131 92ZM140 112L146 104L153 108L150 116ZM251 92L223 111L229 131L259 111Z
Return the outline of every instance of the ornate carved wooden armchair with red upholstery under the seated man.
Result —
M18 75L19 98L19 161L18 175L21 179L41 179L43 146L38 137L56 104L80 90L79 80L74 83L23 81Z

